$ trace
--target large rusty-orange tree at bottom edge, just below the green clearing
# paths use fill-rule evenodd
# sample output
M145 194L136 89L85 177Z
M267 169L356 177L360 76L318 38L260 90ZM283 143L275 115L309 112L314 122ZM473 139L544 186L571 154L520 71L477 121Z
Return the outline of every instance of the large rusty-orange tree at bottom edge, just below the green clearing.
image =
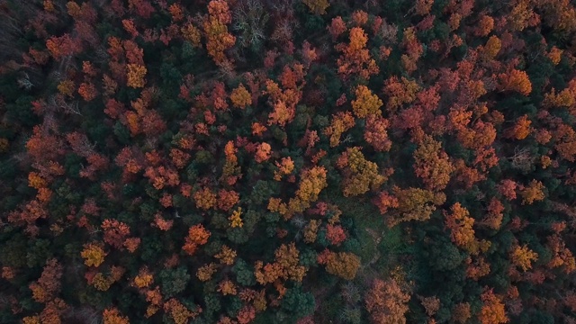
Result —
M404 314L409 310L410 294L402 292L401 285L394 279L374 279L365 295L366 310L373 323L406 323Z

